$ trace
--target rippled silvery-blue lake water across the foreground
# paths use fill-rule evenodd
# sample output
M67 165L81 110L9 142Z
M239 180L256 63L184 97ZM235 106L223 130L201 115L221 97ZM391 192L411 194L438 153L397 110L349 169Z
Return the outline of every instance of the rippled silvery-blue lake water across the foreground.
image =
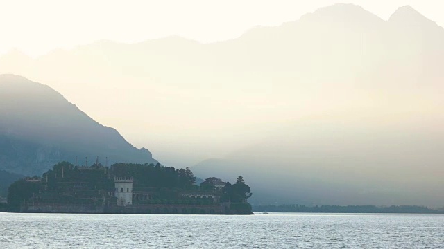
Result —
M0 248L444 248L444 215L10 214Z

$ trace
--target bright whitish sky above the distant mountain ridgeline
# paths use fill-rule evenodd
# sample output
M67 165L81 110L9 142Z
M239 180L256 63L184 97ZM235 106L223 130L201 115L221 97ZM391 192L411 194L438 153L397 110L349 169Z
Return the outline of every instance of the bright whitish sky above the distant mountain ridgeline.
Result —
M134 43L180 35L200 42L238 37L253 26L277 26L334 3L355 3L383 19L399 6L444 26L441 0L0 0L0 55L31 56L99 39Z

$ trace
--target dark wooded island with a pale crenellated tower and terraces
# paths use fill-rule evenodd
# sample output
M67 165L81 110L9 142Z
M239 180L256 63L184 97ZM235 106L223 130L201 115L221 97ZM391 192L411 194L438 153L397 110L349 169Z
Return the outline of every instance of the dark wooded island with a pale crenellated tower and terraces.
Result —
M8 189L8 212L94 214L253 214L244 178L210 177L196 184L191 169L157 163L61 162L42 177L22 178Z

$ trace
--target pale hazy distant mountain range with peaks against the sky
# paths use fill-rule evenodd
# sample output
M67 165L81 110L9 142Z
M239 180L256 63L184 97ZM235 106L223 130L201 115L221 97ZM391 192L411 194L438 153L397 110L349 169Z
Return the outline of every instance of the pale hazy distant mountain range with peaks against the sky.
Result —
M444 29L409 6L384 21L338 4L213 44L12 53L0 71L46 82L94 117L132 120L119 130L150 139L167 164L221 158L194 172L242 174L253 202L442 206L443 44Z

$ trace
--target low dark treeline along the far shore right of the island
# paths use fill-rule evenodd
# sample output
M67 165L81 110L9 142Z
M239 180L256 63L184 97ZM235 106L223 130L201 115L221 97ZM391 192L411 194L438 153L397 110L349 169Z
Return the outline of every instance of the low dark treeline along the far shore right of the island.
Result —
M377 214L443 214L444 211L432 210L414 205L391 205L378 207L375 205L253 205L253 212L319 212L319 213L377 213Z

